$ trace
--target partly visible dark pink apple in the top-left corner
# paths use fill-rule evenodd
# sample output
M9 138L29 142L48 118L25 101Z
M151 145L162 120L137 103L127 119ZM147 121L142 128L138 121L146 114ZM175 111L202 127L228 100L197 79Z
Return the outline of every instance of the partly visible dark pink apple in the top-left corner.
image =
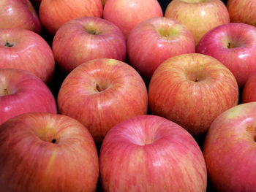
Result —
M25 28L42 31L37 12L29 0L1 0L0 28Z

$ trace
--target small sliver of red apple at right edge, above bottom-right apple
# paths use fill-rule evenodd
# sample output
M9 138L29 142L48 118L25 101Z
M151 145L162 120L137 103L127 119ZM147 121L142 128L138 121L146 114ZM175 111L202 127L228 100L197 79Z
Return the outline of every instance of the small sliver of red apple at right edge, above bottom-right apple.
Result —
M256 102L256 72L244 84L241 92L241 103Z

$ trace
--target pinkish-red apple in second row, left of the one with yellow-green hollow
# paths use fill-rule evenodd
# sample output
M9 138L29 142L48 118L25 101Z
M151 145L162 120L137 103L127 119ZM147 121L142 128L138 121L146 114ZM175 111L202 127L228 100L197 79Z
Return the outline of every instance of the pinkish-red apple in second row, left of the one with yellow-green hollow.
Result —
M108 20L82 17L69 20L53 38L53 55L64 72L95 58L125 61L127 45L121 30Z

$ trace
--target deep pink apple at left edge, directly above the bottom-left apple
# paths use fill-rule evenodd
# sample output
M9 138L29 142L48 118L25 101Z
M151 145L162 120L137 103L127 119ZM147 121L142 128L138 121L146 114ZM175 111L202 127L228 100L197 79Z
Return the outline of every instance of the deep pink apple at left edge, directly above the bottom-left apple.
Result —
M0 124L26 112L56 113L50 89L30 72L0 69Z

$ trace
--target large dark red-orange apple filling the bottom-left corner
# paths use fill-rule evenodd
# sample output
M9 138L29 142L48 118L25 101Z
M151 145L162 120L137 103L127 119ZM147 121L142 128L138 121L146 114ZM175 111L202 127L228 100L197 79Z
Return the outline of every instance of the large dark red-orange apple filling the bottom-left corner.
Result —
M78 120L31 112L0 126L0 191L96 191L97 149Z

